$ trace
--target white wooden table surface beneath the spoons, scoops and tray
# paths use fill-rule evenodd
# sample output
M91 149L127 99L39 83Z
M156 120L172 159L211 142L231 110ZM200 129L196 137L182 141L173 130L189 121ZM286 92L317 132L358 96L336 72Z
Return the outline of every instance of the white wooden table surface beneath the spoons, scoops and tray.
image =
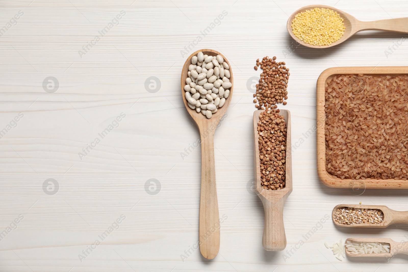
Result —
M307 132L315 125L315 84L324 69L407 65L407 39L368 31L324 51L295 46L288 15L315 3L0 1L0 28L6 27L0 29L0 271L406 271L405 255L339 261L324 246L348 237L407 240L403 225L346 230L331 220L319 224L339 203L408 210L407 191L361 194L322 185L316 136ZM360 20L408 16L406 1L324 4ZM204 37L200 31L208 26ZM182 65L202 48L226 55L235 79L215 133L225 220L211 261L191 250L198 240L201 154L200 147L185 151L199 133L180 96ZM255 107L247 83L259 76L255 60L266 55L285 61L291 74L288 104L279 106L291 111L295 145L283 252L262 248L263 207L248 190Z

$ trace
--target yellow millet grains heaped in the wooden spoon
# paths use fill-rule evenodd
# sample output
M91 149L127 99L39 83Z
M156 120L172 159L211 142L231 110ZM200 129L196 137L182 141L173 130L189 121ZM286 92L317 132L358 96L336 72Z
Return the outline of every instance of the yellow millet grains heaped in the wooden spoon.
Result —
M292 21L292 32L299 40L313 45L330 45L344 34L344 22L331 9L314 8L297 13Z

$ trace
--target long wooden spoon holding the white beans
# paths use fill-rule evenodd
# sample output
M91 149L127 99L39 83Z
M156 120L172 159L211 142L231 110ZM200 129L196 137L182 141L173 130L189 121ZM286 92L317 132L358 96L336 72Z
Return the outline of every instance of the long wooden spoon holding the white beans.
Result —
M230 94L225 100L224 106L218 108L211 119L208 119L202 113L191 109L185 97L184 85L188 77L188 66L191 64L191 57L202 52L204 55L221 55L224 62L228 64L230 71ZM201 137L201 193L200 193L200 252L206 259L213 259L217 256L220 249L220 218L218 215L217 187L215 185L215 162L214 162L214 132L222 116L226 112L233 93L234 79L232 68L226 57L221 53L211 49L201 49L191 54L184 63L181 73L181 93L184 105L200 130Z

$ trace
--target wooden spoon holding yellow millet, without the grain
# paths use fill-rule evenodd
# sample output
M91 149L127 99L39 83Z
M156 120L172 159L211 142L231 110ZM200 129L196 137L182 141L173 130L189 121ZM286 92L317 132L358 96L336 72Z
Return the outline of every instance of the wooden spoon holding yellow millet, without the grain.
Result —
M344 27L346 28L344 30L344 35L341 36L339 40L336 42L333 42L330 45L312 45L308 44L306 42L302 42L293 34L292 32L292 21L293 18L295 18L295 15L300 12L304 12L306 10L314 9L314 8L325 8L325 9L331 9L333 11L336 11L339 13L341 18L344 19ZM310 5L306 7L302 7L295 11L292 15L290 15L288 19L288 23L286 24L286 28L288 29L288 32L292 38L298 42L299 44L302 44L307 47L311 48L328 48L331 46L335 46L337 44L341 44L351 36L353 36L355 33L359 31L364 31L364 30L384 30L384 31L392 31L392 32L400 32L400 33L407 33L408 32L408 17L406 18L397 18L397 19L387 19L387 20L377 20L377 21L370 21L370 22L363 22L357 20L355 17L352 15L345 13L344 11L341 11L339 9L336 9L334 7L330 6L324 6L324 5Z

